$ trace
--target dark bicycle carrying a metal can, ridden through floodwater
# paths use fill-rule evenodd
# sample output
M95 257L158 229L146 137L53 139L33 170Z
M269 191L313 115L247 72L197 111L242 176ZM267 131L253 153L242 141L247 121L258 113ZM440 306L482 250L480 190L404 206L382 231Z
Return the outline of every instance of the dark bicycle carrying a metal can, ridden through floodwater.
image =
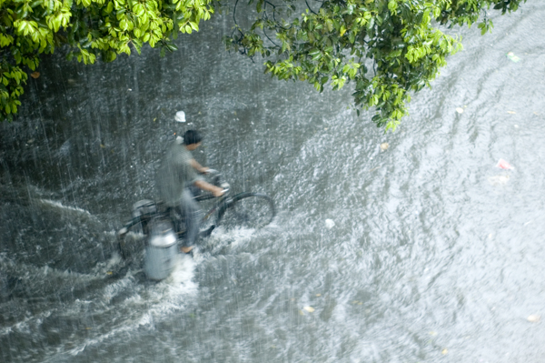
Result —
M242 192L231 197L229 195L231 188L223 180L222 175L213 169L209 169L208 173L213 178L212 183L217 187L223 187L224 193L222 197L214 197L211 193L194 197L198 202L217 199L204 214L199 237L209 237L213 230L220 226L220 222L225 229L233 227L259 229L272 222L276 216L276 207L271 197L253 192ZM183 213L178 207L167 207L162 201L144 199L134 204L132 215L133 219L117 232L122 256L124 236L134 226L139 226L144 236L151 237L154 230L155 232L157 229L166 230L170 225L178 242L185 237Z

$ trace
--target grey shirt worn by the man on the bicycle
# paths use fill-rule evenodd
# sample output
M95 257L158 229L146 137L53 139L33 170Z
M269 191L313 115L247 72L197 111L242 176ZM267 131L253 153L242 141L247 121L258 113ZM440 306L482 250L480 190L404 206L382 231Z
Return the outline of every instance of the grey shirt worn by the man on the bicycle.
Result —
M157 172L157 187L159 196L167 206L179 206L183 189L201 180L191 166L192 160L191 152L177 140L166 151Z

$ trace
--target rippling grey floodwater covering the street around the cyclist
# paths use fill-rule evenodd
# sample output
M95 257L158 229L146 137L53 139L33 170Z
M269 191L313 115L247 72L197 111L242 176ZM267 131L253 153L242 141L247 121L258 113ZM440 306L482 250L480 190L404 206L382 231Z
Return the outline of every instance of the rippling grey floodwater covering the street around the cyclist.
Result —
M164 58L45 59L0 125L0 360L544 361L544 18L529 2L491 35L457 30L464 51L393 134L350 89L224 52L230 16ZM114 233L190 127L203 165L279 214L155 283L142 241L124 259Z

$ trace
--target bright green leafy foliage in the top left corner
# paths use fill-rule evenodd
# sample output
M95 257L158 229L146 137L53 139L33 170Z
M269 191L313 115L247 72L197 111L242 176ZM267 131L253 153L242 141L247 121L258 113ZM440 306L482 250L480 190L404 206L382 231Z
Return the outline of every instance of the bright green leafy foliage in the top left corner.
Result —
M140 53L145 43L164 54L176 50L178 32L198 31L212 14L212 0L0 0L0 115L11 120L21 105L22 67L34 71L57 46L84 64Z

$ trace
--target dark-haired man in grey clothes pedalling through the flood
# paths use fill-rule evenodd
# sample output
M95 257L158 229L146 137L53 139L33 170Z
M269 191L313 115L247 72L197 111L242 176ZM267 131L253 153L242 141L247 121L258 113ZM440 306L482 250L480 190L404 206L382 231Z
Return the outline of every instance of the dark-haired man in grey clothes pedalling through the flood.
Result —
M168 207L181 207L185 217L187 235L182 252L189 253L193 249L199 235L202 211L193 199L190 187L209 191L214 197L223 196L223 189L215 187L203 180L199 173L206 173L208 168L201 166L193 158L191 152L201 146L202 136L195 130L188 130L182 140L176 139L169 146L157 172L159 195Z

